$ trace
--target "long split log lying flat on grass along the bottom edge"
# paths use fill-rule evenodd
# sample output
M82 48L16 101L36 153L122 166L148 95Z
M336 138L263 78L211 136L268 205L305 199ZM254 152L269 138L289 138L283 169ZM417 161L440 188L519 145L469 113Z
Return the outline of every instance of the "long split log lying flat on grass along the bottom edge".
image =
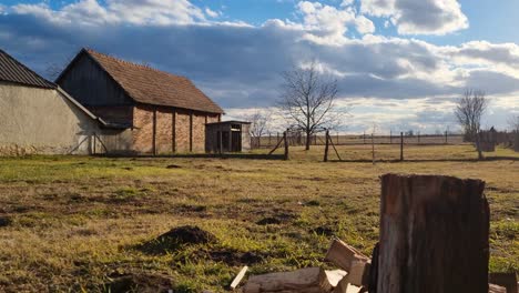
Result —
M324 293L330 292L332 290L333 287L323 269L308 267L294 272L251 276L245 284L243 292Z

